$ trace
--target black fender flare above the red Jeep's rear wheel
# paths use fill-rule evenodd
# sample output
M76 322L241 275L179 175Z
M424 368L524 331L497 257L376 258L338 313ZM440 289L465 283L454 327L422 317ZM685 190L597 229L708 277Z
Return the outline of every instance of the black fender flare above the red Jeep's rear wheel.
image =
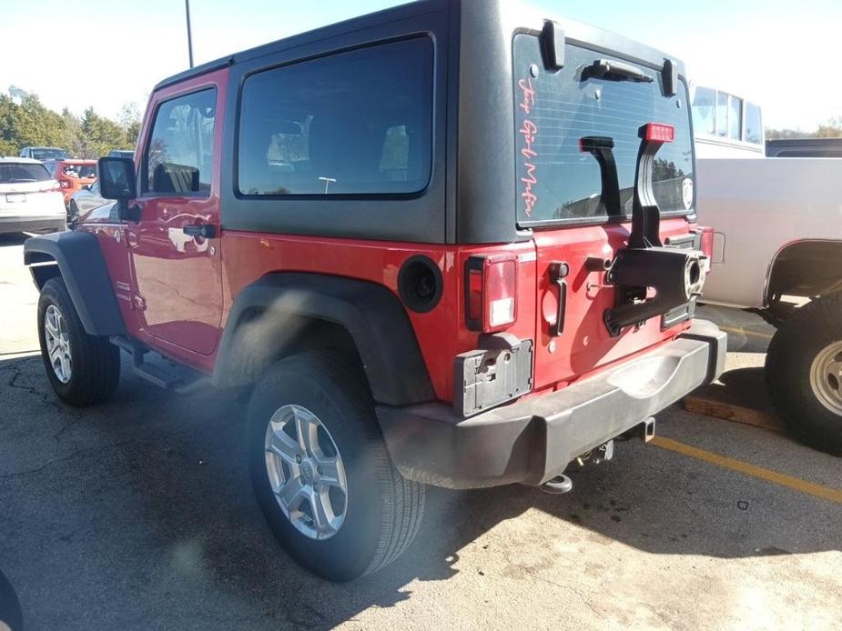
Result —
M214 385L255 381L278 359L268 342L295 336L287 323L301 320L321 320L348 332L378 403L403 406L435 398L409 316L389 288L291 272L263 276L238 293L219 343Z

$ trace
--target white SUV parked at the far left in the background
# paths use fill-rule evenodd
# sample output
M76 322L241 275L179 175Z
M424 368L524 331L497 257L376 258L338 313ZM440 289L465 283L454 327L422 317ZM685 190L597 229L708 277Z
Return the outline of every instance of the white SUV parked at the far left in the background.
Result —
M58 183L32 158L0 157L0 234L64 230Z

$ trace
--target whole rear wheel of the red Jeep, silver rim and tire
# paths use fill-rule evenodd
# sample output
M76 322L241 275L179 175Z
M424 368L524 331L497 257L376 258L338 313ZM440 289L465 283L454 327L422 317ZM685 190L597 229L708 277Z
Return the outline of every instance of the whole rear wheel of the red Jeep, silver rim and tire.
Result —
M332 581L374 572L421 525L424 486L391 463L368 386L342 356L271 366L249 403L249 468L290 556Z

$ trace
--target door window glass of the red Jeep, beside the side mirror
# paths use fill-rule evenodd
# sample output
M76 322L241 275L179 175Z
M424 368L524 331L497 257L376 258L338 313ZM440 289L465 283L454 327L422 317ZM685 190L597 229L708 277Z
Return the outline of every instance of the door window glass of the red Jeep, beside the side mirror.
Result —
M143 156L145 193L210 194L216 105L211 88L158 106Z

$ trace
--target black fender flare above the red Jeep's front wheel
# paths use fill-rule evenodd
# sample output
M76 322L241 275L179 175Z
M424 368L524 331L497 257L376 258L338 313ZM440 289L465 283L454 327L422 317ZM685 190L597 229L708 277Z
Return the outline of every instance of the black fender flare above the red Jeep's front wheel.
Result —
M44 284L44 276L37 274L38 268L32 265L54 262L87 334L125 336L126 324L96 235L71 231L26 239L24 265L30 266L29 271L39 290Z

